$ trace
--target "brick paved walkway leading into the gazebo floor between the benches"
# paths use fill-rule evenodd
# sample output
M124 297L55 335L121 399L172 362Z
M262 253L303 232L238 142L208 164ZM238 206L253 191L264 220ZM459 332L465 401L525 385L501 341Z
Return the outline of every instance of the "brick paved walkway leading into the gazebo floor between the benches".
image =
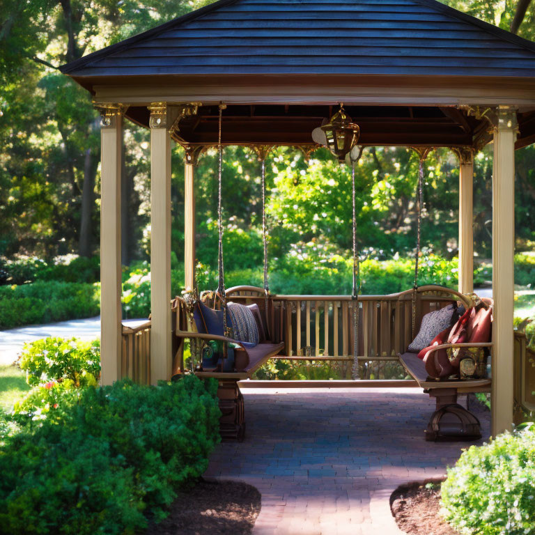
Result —
M433 401L419 389L242 391L245 441L219 444L205 476L260 490L254 535L401 534L392 490L442 476L467 446L425 442Z

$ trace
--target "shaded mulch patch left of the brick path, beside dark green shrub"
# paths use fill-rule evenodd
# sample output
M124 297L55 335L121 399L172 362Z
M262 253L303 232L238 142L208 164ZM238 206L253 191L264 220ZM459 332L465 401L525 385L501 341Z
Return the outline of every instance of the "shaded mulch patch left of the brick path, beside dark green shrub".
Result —
M169 516L146 535L249 535L260 502L258 490L246 483L201 480L178 495Z

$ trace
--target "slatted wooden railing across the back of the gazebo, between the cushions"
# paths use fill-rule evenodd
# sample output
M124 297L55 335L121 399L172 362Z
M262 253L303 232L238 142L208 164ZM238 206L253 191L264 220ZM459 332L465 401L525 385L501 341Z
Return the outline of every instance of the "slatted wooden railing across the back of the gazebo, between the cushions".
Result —
M466 297L437 286L419 289L415 307L416 331L421 317ZM228 290L228 300L256 302L265 310L263 290L237 286ZM286 343L276 358L292 360L350 360L355 340L353 307L346 295L272 295L271 337ZM363 360L397 360L414 338L412 290L391 295L359 296L358 356Z

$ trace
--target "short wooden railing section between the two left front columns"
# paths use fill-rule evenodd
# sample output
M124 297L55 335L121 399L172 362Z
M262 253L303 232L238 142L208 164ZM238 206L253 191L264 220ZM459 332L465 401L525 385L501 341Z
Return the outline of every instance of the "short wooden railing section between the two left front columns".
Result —
M150 385L150 320L123 324L121 377Z

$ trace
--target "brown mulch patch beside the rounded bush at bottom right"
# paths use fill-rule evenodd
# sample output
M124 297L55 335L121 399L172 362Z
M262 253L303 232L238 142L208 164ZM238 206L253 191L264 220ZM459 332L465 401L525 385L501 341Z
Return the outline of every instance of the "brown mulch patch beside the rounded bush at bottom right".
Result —
M459 535L440 516L440 483L409 483L390 497L392 515L409 535Z

